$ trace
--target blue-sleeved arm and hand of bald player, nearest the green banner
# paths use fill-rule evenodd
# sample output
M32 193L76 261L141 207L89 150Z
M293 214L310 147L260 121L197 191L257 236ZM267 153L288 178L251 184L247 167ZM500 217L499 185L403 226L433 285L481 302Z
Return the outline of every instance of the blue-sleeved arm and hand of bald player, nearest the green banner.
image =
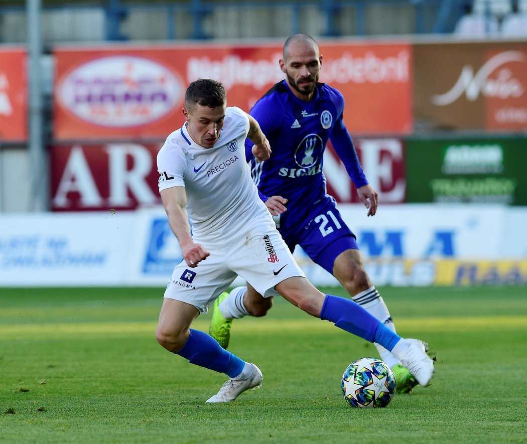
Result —
M350 179L357 188L357 194L364 206L368 209L368 216L373 216L377 212L379 196L366 179L366 174L360 165L357 150L353 144L352 136L349 134L342 115L335 122L331 143L346 167Z

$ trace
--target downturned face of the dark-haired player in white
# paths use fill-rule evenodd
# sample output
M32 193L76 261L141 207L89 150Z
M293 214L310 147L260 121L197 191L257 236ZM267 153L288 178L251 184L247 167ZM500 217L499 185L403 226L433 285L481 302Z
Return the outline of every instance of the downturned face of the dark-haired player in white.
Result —
M215 108L193 104L183 108L187 129L194 142L203 148L214 146L223 127L226 107L226 104Z

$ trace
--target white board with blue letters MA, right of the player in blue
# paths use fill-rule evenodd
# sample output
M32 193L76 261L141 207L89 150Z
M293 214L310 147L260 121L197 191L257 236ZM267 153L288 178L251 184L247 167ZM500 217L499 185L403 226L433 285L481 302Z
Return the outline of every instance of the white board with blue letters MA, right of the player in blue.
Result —
M360 205L339 207L357 236L364 258L496 259L501 249L505 206L382 205L374 217Z

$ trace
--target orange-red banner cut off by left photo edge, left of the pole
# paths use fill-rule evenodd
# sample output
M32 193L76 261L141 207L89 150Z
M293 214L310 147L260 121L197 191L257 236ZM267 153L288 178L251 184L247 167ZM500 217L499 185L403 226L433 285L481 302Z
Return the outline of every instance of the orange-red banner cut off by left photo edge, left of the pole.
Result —
M0 141L27 139L26 52L0 49Z

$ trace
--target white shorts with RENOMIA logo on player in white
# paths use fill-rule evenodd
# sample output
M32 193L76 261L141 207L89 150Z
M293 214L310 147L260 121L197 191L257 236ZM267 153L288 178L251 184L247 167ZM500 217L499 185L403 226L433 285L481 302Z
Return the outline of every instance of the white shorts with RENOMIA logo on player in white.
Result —
M241 231L241 230L240 230ZM172 272L164 297L194 305L207 313L210 304L239 275L265 298L278 295L275 285L294 276L306 277L274 224L265 223L229 239L198 240L210 256L196 268L181 261Z

